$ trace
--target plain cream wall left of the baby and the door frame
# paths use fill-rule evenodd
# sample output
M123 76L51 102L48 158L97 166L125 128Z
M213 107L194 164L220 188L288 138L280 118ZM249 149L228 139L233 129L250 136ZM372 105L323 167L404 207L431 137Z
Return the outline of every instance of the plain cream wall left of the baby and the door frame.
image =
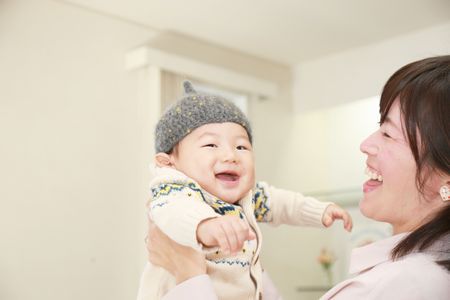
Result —
M152 35L61 2L0 2L0 299L135 297L146 166L124 55Z

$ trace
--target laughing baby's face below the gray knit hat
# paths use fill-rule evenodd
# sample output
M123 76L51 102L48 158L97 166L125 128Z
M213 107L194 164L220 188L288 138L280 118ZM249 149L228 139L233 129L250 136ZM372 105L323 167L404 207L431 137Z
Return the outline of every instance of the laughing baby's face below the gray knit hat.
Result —
M243 198L255 183L253 148L236 123L200 126L173 151L174 167L228 203Z

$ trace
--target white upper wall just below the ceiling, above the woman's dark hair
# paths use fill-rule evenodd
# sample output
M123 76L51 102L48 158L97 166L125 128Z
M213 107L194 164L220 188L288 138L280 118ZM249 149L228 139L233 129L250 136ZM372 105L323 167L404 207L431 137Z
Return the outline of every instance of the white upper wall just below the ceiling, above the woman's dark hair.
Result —
M294 68L296 111L379 95L388 77L401 66L449 53L450 22L300 63Z

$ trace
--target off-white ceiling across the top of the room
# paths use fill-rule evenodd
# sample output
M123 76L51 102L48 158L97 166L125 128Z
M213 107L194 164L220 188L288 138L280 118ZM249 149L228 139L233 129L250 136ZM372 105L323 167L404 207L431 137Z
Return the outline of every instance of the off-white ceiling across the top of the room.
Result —
M61 0L284 64L450 21L450 0Z

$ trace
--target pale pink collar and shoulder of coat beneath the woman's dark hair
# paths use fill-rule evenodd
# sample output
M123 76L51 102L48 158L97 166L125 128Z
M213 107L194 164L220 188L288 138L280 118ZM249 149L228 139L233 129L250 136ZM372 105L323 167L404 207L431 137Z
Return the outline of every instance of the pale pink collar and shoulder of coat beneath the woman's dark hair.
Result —
M356 248L352 251L350 274L326 299L450 299L450 272L434 262L433 254L413 253L392 261L391 250L407 234Z

